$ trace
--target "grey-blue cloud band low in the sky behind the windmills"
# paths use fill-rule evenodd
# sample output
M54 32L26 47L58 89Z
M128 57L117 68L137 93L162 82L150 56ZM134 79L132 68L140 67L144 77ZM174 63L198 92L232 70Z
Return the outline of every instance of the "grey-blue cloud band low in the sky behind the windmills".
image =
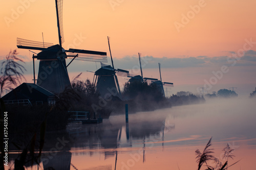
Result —
M230 54L233 54L232 52L229 52ZM22 59L27 59L26 56L18 56ZM222 66L222 65L231 65L232 62L228 62L228 58L230 56L217 56L217 57L207 57L207 56L197 56L197 57L182 57L182 58L167 58L167 57L161 57L156 58L153 56L143 56L141 57L141 65L143 69L145 68L158 68L158 63L161 63L162 68L186 68L186 67L208 67L208 66ZM0 63L4 60L0 60ZM70 59L66 60L66 63L70 62ZM133 69L139 68L139 57L136 55L133 56L125 56L123 58L114 58L114 66L115 68L120 69ZM111 59L108 57L108 63L105 64L111 64ZM25 74L31 73L31 70L33 70L33 62L26 61L25 64L23 64L24 67L27 69ZM234 66L256 66L256 51L247 51L245 52L244 56L241 57L239 60L237 60L236 65ZM39 61L35 60L35 70L38 71L39 67ZM74 60L70 66L68 67L69 72L86 72L89 71L96 71L98 68L100 68L100 63L95 62L88 62L88 61L78 61Z

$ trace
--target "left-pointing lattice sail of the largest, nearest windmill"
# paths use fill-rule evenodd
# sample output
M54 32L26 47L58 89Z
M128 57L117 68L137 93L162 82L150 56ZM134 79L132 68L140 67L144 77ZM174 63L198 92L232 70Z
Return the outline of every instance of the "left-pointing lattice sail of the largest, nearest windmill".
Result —
M31 41L27 39L17 38L17 47L31 50L46 50L48 47L53 46L53 43Z

